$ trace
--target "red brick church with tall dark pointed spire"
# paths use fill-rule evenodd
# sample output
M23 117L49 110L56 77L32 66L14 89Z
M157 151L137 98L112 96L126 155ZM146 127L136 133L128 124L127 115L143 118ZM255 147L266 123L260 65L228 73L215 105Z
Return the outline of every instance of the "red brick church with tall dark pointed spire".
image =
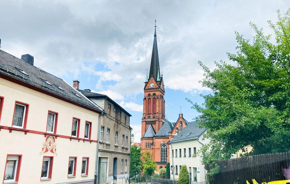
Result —
M178 132L189 124L180 112L174 123L165 118L165 89L163 75L160 75L156 25L150 71L144 86L143 116L141 129L141 153L149 151L156 162L157 170L165 168L169 162L169 144Z

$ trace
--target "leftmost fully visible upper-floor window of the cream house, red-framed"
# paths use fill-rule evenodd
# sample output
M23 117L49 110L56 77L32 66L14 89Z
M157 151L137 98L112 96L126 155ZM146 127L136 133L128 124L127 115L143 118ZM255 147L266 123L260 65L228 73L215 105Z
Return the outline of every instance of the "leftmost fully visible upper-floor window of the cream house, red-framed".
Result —
M13 115L13 127L26 129L28 104L16 102Z

